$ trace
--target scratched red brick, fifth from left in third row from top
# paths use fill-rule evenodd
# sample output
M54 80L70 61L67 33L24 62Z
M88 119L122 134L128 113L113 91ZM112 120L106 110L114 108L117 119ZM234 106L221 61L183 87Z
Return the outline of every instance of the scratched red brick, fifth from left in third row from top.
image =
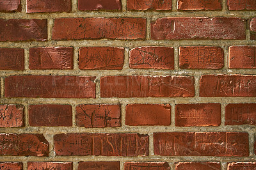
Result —
M182 69L220 69L224 66L221 47L179 47L179 65Z

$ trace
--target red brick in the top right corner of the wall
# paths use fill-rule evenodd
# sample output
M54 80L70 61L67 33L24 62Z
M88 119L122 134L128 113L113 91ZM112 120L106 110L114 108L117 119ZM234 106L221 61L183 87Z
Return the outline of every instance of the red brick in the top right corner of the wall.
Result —
M256 10L256 1L228 0L228 10Z

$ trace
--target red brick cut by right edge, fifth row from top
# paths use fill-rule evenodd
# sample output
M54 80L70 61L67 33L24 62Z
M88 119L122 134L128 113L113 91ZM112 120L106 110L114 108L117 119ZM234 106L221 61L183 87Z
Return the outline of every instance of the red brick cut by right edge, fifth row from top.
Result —
M256 125L256 104L228 104L225 125Z

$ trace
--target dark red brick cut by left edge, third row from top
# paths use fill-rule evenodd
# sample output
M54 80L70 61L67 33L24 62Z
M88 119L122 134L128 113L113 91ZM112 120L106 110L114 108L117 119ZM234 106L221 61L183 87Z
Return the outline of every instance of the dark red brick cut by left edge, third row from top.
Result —
M0 70L24 70L24 49L0 48Z

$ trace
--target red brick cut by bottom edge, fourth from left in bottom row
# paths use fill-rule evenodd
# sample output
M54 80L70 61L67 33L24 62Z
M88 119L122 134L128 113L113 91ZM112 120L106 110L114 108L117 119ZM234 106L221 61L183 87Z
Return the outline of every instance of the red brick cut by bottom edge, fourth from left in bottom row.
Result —
M169 170L170 166L168 162L125 162L124 164L125 170Z

